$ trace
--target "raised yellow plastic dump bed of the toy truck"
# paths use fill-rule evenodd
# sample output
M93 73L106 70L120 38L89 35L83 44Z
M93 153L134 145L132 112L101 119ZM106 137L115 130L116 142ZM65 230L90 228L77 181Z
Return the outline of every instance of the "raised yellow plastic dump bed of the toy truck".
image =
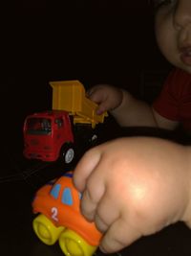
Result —
M96 114L97 105L85 95L80 81L50 81L53 87L53 109L68 111L74 116L74 124L103 123L107 113Z

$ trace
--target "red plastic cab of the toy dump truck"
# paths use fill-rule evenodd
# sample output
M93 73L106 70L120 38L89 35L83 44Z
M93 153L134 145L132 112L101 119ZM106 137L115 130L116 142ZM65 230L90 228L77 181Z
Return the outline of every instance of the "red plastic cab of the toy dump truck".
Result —
M73 158L74 134L71 126L70 116L64 110L29 115L24 122L25 157L49 162L68 152Z

